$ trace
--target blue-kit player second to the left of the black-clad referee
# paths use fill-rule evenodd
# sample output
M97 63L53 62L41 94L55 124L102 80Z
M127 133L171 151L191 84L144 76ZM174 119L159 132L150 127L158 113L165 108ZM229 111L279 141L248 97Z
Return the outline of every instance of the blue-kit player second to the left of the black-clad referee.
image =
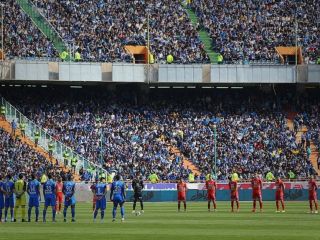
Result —
M105 178L100 178L100 182L95 185L95 195L96 195L96 207L93 213L93 220L96 221L98 211L101 212L101 221L104 219L104 210L107 206L106 194L107 194L107 184L105 183Z

